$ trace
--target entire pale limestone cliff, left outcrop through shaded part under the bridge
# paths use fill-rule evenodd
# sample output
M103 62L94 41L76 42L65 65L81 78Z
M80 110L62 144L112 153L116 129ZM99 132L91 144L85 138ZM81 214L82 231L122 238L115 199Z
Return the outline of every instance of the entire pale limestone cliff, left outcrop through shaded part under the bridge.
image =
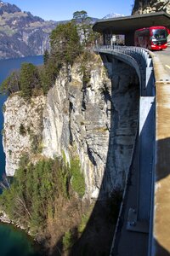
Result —
M88 80L80 64L62 68L48 96L25 102L10 96L4 107L3 146L6 172L13 176L21 154L79 157L87 195L124 186L131 163L139 111L139 81L132 67L111 64L106 72L98 55L88 63Z

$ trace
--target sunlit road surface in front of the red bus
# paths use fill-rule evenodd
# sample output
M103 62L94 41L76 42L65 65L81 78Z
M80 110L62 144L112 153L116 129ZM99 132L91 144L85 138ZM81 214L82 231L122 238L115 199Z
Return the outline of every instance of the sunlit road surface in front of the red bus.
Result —
M161 60L163 67L167 70L167 73L170 75L170 47L160 51L154 52L155 55Z

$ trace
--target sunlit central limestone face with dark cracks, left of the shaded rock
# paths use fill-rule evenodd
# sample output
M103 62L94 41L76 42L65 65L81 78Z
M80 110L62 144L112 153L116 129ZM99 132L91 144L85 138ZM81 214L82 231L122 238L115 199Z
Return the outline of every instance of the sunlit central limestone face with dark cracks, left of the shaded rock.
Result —
M64 69L61 71L48 92L42 133L46 156L64 151L69 160L76 150L92 196L98 195L104 174L111 124L111 80L99 57L95 58L97 63L88 67L88 84L82 81L79 65L71 68L69 78Z

